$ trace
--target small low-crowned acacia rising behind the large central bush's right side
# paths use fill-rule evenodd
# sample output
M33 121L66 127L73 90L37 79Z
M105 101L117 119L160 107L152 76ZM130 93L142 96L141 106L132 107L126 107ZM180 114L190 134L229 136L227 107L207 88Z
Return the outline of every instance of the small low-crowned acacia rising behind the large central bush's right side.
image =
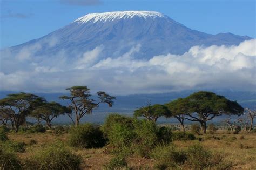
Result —
M156 122L158 118L171 117L171 112L168 107L165 105L155 104L151 106L150 103L147 103L146 107L140 107L134 111L133 114L135 117L145 117L147 120Z

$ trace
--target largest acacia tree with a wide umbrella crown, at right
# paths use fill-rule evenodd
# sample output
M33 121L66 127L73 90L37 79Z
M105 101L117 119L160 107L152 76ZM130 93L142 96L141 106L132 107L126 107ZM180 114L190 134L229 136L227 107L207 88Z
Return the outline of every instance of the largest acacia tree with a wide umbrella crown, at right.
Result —
M208 120L212 120L223 114L241 115L244 111L237 101L231 101L224 96L219 96L213 92L199 91L185 98L189 106L189 113L185 119L197 121L201 129L206 133Z

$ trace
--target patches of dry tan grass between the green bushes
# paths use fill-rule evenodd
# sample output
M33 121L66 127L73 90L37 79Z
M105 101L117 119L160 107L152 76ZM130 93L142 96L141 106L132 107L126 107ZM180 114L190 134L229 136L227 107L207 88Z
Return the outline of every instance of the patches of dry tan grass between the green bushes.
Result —
M213 153L222 153L225 155L225 160L232 162L233 169L256 169L256 134L255 133L241 133L232 134L228 131L217 131L214 139L211 134L201 135L203 141L200 143L210 149ZM29 157L35 152L38 147L43 147L55 141L61 140L66 142L69 134L57 135L51 133L35 133L35 134L9 134L9 138L15 141L22 141L28 144L25 153L19 153L18 156L22 158ZM30 145L31 140L36 140L37 144ZM194 141L174 141L174 144L180 148L187 148L199 142ZM112 154L105 153L104 148L99 149L75 149L74 152L82 155L84 160L84 169L102 169L107 162L113 157ZM133 169L153 169L155 160L128 157L127 164Z

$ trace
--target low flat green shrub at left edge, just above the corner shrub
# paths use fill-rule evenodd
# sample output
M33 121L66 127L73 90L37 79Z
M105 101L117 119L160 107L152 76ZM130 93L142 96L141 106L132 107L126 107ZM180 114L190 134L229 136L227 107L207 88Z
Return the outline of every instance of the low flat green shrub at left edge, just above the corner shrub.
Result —
M24 142L16 142L12 140L6 140L1 142L0 146L8 152L25 152L26 144Z

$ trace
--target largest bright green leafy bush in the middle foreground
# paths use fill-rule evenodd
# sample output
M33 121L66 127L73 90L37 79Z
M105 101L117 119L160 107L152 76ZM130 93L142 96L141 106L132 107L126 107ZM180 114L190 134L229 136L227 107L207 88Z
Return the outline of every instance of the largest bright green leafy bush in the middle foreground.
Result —
M138 120L118 114L107 117L103 131L109 146L117 149L130 148L131 153L146 156L158 143L169 143L171 131L167 127L157 127L156 123Z

